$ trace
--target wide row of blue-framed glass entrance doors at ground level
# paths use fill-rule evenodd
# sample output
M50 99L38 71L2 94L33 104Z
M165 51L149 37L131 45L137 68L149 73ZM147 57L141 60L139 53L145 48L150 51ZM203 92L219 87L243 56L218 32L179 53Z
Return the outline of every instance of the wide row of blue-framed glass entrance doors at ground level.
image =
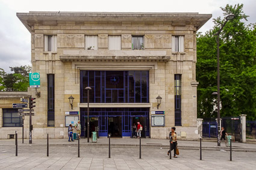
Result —
M87 125L87 108L81 108L81 124ZM90 135L93 131L101 137L109 133L113 137L132 137L133 123L139 121L142 126L142 137L149 136L149 108L90 108ZM86 126L87 128L87 126ZM82 132L82 135L87 135Z

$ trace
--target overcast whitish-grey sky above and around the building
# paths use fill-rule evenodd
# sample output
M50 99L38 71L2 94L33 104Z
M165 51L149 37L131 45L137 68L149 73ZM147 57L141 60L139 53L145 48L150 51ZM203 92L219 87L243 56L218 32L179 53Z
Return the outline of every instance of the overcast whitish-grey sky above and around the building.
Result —
M243 4L248 22L256 23L255 0L0 0L0 68L31 64L30 32L16 17L29 11L89 11L89 12L151 12L213 14L199 31L213 27L213 19L222 16L220 7Z

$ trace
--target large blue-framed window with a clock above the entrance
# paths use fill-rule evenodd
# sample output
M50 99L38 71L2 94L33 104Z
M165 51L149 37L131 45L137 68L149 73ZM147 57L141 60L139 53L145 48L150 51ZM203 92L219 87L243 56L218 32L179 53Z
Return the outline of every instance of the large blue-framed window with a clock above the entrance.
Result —
M81 103L148 103L149 71L81 71Z

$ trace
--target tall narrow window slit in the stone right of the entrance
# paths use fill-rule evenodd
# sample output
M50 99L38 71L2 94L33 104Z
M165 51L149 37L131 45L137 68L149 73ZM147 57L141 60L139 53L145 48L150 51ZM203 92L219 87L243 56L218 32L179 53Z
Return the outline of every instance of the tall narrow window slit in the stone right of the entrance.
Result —
M181 126L181 74L174 75L175 80L175 126Z

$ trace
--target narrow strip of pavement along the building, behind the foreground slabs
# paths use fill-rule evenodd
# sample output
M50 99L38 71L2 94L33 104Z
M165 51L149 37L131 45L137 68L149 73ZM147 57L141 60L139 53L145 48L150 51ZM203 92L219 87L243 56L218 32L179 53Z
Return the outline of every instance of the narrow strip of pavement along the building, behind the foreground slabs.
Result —
M143 148L169 148L168 139L151 139L142 138ZM97 143L92 143L91 138L89 143L87 143L87 138L82 138L80 140L81 147L108 147L108 138L98 138ZM22 144L22 139L18 139L18 145L46 145L46 139L33 139L33 144L28 144L28 139L24 139L24 144ZM15 145L14 139L1 139L1 146L11 146ZM49 139L49 145L78 145L78 140L74 142L68 142L67 139ZM111 147L139 147L140 140L137 138L111 138ZM199 141L178 141L178 146L182 149L187 150L198 150L200 143ZM233 151L244 151L244 152L256 152L255 144L244 144L240 142L232 142ZM226 147L225 142L221 143L221 146L217 146L216 142L206 142L202 141L202 150L229 150Z

